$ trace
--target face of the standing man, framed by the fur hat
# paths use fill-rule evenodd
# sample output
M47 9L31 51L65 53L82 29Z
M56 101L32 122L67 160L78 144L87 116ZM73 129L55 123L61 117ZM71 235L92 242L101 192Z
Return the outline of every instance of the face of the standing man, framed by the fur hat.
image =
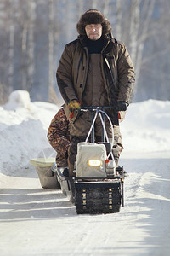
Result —
M85 26L87 37L91 40L98 40L102 35L101 24L88 24Z

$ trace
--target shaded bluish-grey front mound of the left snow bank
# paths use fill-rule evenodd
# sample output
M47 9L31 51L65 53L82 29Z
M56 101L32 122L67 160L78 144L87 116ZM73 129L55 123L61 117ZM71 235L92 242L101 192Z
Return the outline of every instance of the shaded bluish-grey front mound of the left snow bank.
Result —
M13 172L48 147L46 131L39 120L29 119L20 125L10 125L0 133L1 167L3 172Z

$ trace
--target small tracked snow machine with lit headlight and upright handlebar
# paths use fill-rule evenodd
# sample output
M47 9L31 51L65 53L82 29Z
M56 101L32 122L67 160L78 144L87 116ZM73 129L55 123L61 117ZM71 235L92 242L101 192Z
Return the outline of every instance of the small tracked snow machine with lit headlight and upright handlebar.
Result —
M55 164L52 171L56 172L62 192L75 203L77 214L113 213L120 212L124 206L124 171L117 167L112 154L112 142L109 142L105 129L105 117L111 124L111 119L105 113L108 107L87 107L81 111L90 111L92 125L88 137L77 145L76 177L69 177L68 168L59 168ZM99 115L103 127L102 142L94 143L94 123ZM112 127L112 124L111 124Z

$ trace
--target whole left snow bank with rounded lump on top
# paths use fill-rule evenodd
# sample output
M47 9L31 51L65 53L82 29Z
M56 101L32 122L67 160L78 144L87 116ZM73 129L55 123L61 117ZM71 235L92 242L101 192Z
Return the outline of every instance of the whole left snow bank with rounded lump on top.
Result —
M58 110L51 103L31 102L27 91L11 93L0 107L0 172L14 172L31 158L54 153L47 130Z

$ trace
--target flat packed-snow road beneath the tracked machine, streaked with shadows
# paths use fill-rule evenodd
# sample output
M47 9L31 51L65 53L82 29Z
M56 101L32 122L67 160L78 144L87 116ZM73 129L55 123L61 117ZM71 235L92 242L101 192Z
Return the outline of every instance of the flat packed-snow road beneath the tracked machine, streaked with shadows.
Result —
M2 174L0 255L168 255L170 160L124 156L126 204L115 214L77 215L60 190L41 189L33 166Z

